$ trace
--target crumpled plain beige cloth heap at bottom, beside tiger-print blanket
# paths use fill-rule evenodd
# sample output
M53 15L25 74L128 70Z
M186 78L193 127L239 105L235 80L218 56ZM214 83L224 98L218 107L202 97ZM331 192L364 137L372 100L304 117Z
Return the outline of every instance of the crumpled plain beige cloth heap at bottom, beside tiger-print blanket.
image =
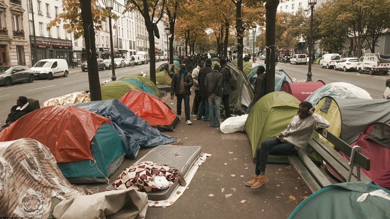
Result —
M61 201L53 211L57 219L144 219L147 194L133 189L77 196Z

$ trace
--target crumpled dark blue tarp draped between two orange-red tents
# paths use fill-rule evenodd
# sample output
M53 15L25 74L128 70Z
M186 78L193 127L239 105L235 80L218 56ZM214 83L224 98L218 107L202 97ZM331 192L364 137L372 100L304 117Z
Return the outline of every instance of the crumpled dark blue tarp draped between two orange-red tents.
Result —
M84 102L74 106L109 118L110 125L121 137L130 158L137 157L140 147L154 147L177 141L151 127L119 100Z

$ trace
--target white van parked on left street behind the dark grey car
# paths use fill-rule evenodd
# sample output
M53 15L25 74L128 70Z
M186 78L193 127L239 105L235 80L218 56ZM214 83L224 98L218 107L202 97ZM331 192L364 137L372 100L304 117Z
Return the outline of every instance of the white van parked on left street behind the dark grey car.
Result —
M30 68L35 78L47 78L52 80L54 76L68 76L68 63L65 59L48 58L39 60Z

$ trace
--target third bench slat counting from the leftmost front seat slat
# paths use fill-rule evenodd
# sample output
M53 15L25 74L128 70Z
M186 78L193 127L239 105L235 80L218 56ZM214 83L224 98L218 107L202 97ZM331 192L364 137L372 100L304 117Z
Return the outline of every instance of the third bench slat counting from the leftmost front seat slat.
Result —
M310 139L308 144L312 147L320 157L345 181L348 179L348 173L344 166L342 166L332 155L328 154L316 141ZM355 177L351 177L351 182L356 182Z

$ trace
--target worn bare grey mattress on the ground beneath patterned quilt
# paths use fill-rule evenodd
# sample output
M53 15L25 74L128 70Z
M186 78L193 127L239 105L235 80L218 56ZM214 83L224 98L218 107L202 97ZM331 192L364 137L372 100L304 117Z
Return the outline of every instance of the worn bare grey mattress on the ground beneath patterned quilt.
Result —
M181 174L185 177L201 153L202 148L200 146L159 145L149 151L149 153L139 159L136 163L142 161L153 161L158 164L167 164L169 167L180 170ZM176 190L178 185L179 181L176 181L175 184L163 191L147 192L146 194L148 196L148 200L167 200ZM107 189L115 190L111 184L107 187Z

